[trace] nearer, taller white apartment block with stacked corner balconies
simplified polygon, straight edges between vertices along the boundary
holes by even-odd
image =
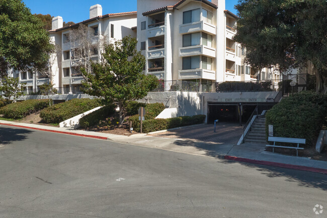
[[[224,0],[138,0],[144,72],[201,84],[257,80],[259,73],[242,64],[244,49],[232,40],[237,19]]]

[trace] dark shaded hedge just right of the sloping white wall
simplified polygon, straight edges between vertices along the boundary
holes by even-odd
[[[116,105],[110,104],[106,105],[99,110],[93,111],[81,117],[79,119],[79,124],[81,127],[90,127],[99,124],[101,120],[105,120],[107,117],[115,113]]]

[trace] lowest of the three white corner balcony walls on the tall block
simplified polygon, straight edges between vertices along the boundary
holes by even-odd
[[[179,80],[216,80],[216,71],[209,69],[183,69],[178,71]]]

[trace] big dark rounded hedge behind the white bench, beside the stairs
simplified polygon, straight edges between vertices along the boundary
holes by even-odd
[[[274,136],[305,138],[312,146],[322,126],[326,124],[327,95],[310,91],[284,98],[266,114],[268,125],[274,126]]]

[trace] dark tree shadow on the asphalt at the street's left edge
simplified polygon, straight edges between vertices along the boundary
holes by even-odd
[[[0,127],[0,143],[1,144],[9,144],[12,141],[21,141],[27,138],[27,134],[32,131],[27,129],[14,129],[14,128],[6,128]]]

